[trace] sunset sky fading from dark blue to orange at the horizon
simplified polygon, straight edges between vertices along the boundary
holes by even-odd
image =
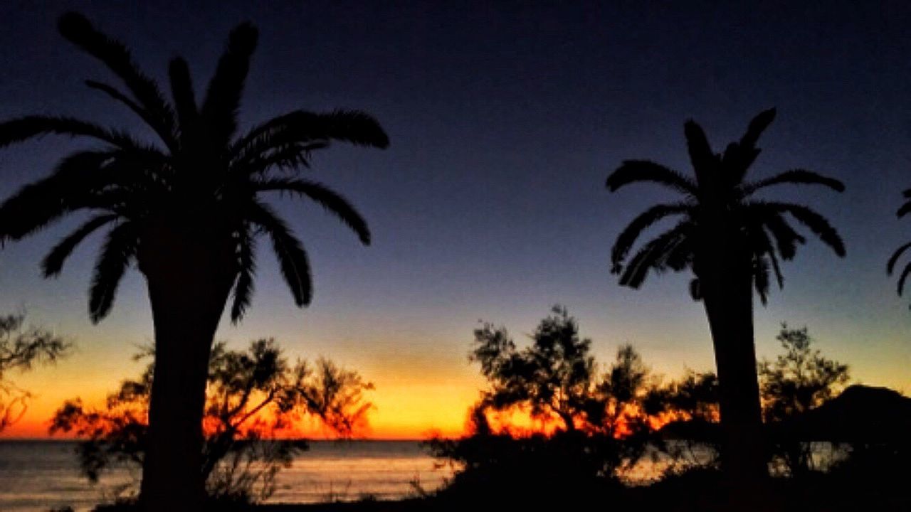
[[[242,348],[274,337],[291,357],[327,356],[376,386],[378,438],[462,431],[484,381],[467,353],[479,321],[517,341],[560,303],[609,363],[632,343],[656,374],[711,370],[704,311],[685,274],[640,290],[609,273],[619,230],[666,191],[609,193],[623,159],[689,171],[682,127],[693,118],[721,150],[756,113],[778,117],[750,176],[813,169],[844,181],[782,188],[841,232],[839,259],[810,240],[784,264],[783,291],[757,303],[761,357],[780,324],[807,326],[855,382],[911,392],[911,297],[885,261],[911,240],[897,220],[911,187],[911,7],[903,2],[5,2],[0,16],[0,119],[67,114],[151,139],[130,113],[82,83],[112,79],[56,33],[67,10],[128,44],[164,80],[185,56],[203,88],[232,26],[260,28],[241,124],[305,108],[358,108],[379,119],[385,150],[336,145],[308,178],[343,193],[374,243],[302,201],[277,200],[311,256],[312,305],[294,306],[268,251],[240,325],[217,338]],[[46,137],[0,149],[0,200],[85,140]],[[772,194],[772,192],[770,192]],[[772,197],[770,195],[770,197]],[[38,261],[84,216],[0,251],[0,312],[27,312],[76,352],[52,367],[7,374],[36,396],[7,436],[45,435],[67,398],[101,400],[152,340],[145,282],[130,271],[113,311],[93,325],[87,287],[100,236],[54,280]],[[262,246],[265,247],[264,245]]]

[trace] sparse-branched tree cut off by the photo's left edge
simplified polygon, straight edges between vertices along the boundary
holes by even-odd
[[[24,314],[0,316],[0,432],[22,419],[32,394],[5,378],[13,370],[30,370],[34,364],[54,363],[69,353],[72,344],[46,329],[26,328]]]

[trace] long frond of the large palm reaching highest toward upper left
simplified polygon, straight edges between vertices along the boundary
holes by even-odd
[[[174,113],[161,95],[155,80],[143,74],[127,46],[97,31],[84,15],[69,12],[60,16],[57,23],[60,34],[89,55],[96,57],[114,72],[146,111],[155,119],[153,128],[169,134],[174,140]],[[169,144],[170,147],[170,144]]]

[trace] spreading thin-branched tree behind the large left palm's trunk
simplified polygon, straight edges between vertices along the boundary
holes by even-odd
[[[137,358],[153,355],[152,350]],[[154,362],[135,380],[108,394],[103,409],[68,400],[51,422],[50,433],[72,432],[79,463],[90,482],[114,464],[141,466],[148,443],[148,404]],[[200,473],[212,499],[258,501],[275,490],[275,476],[290,466],[306,442],[282,437],[305,417],[335,434],[350,436],[366,423],[371,404],[363,393],[373,385],[331,361],[289,364],[272,339],[256,340],[246,351],[216,343],[209,364],[205,443]]]

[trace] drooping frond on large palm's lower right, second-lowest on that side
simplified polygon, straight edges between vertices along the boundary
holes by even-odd
[[[312,300],[310,262],[307,261],[307,253],[303,250],[301,241],[292,234],[284,220],[260,202],[252,204],[247,219],[268,233],[272,250],[279,261],[281,276],[292,292],[294,303],[298,306],[309,304]]]

